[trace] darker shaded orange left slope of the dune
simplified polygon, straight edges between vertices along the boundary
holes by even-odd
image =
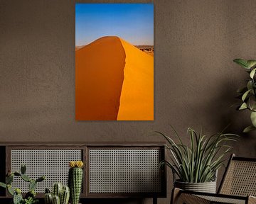
[[[75,119],[117,120],[125,52],[117,37],[103,37],[75,52]]]

